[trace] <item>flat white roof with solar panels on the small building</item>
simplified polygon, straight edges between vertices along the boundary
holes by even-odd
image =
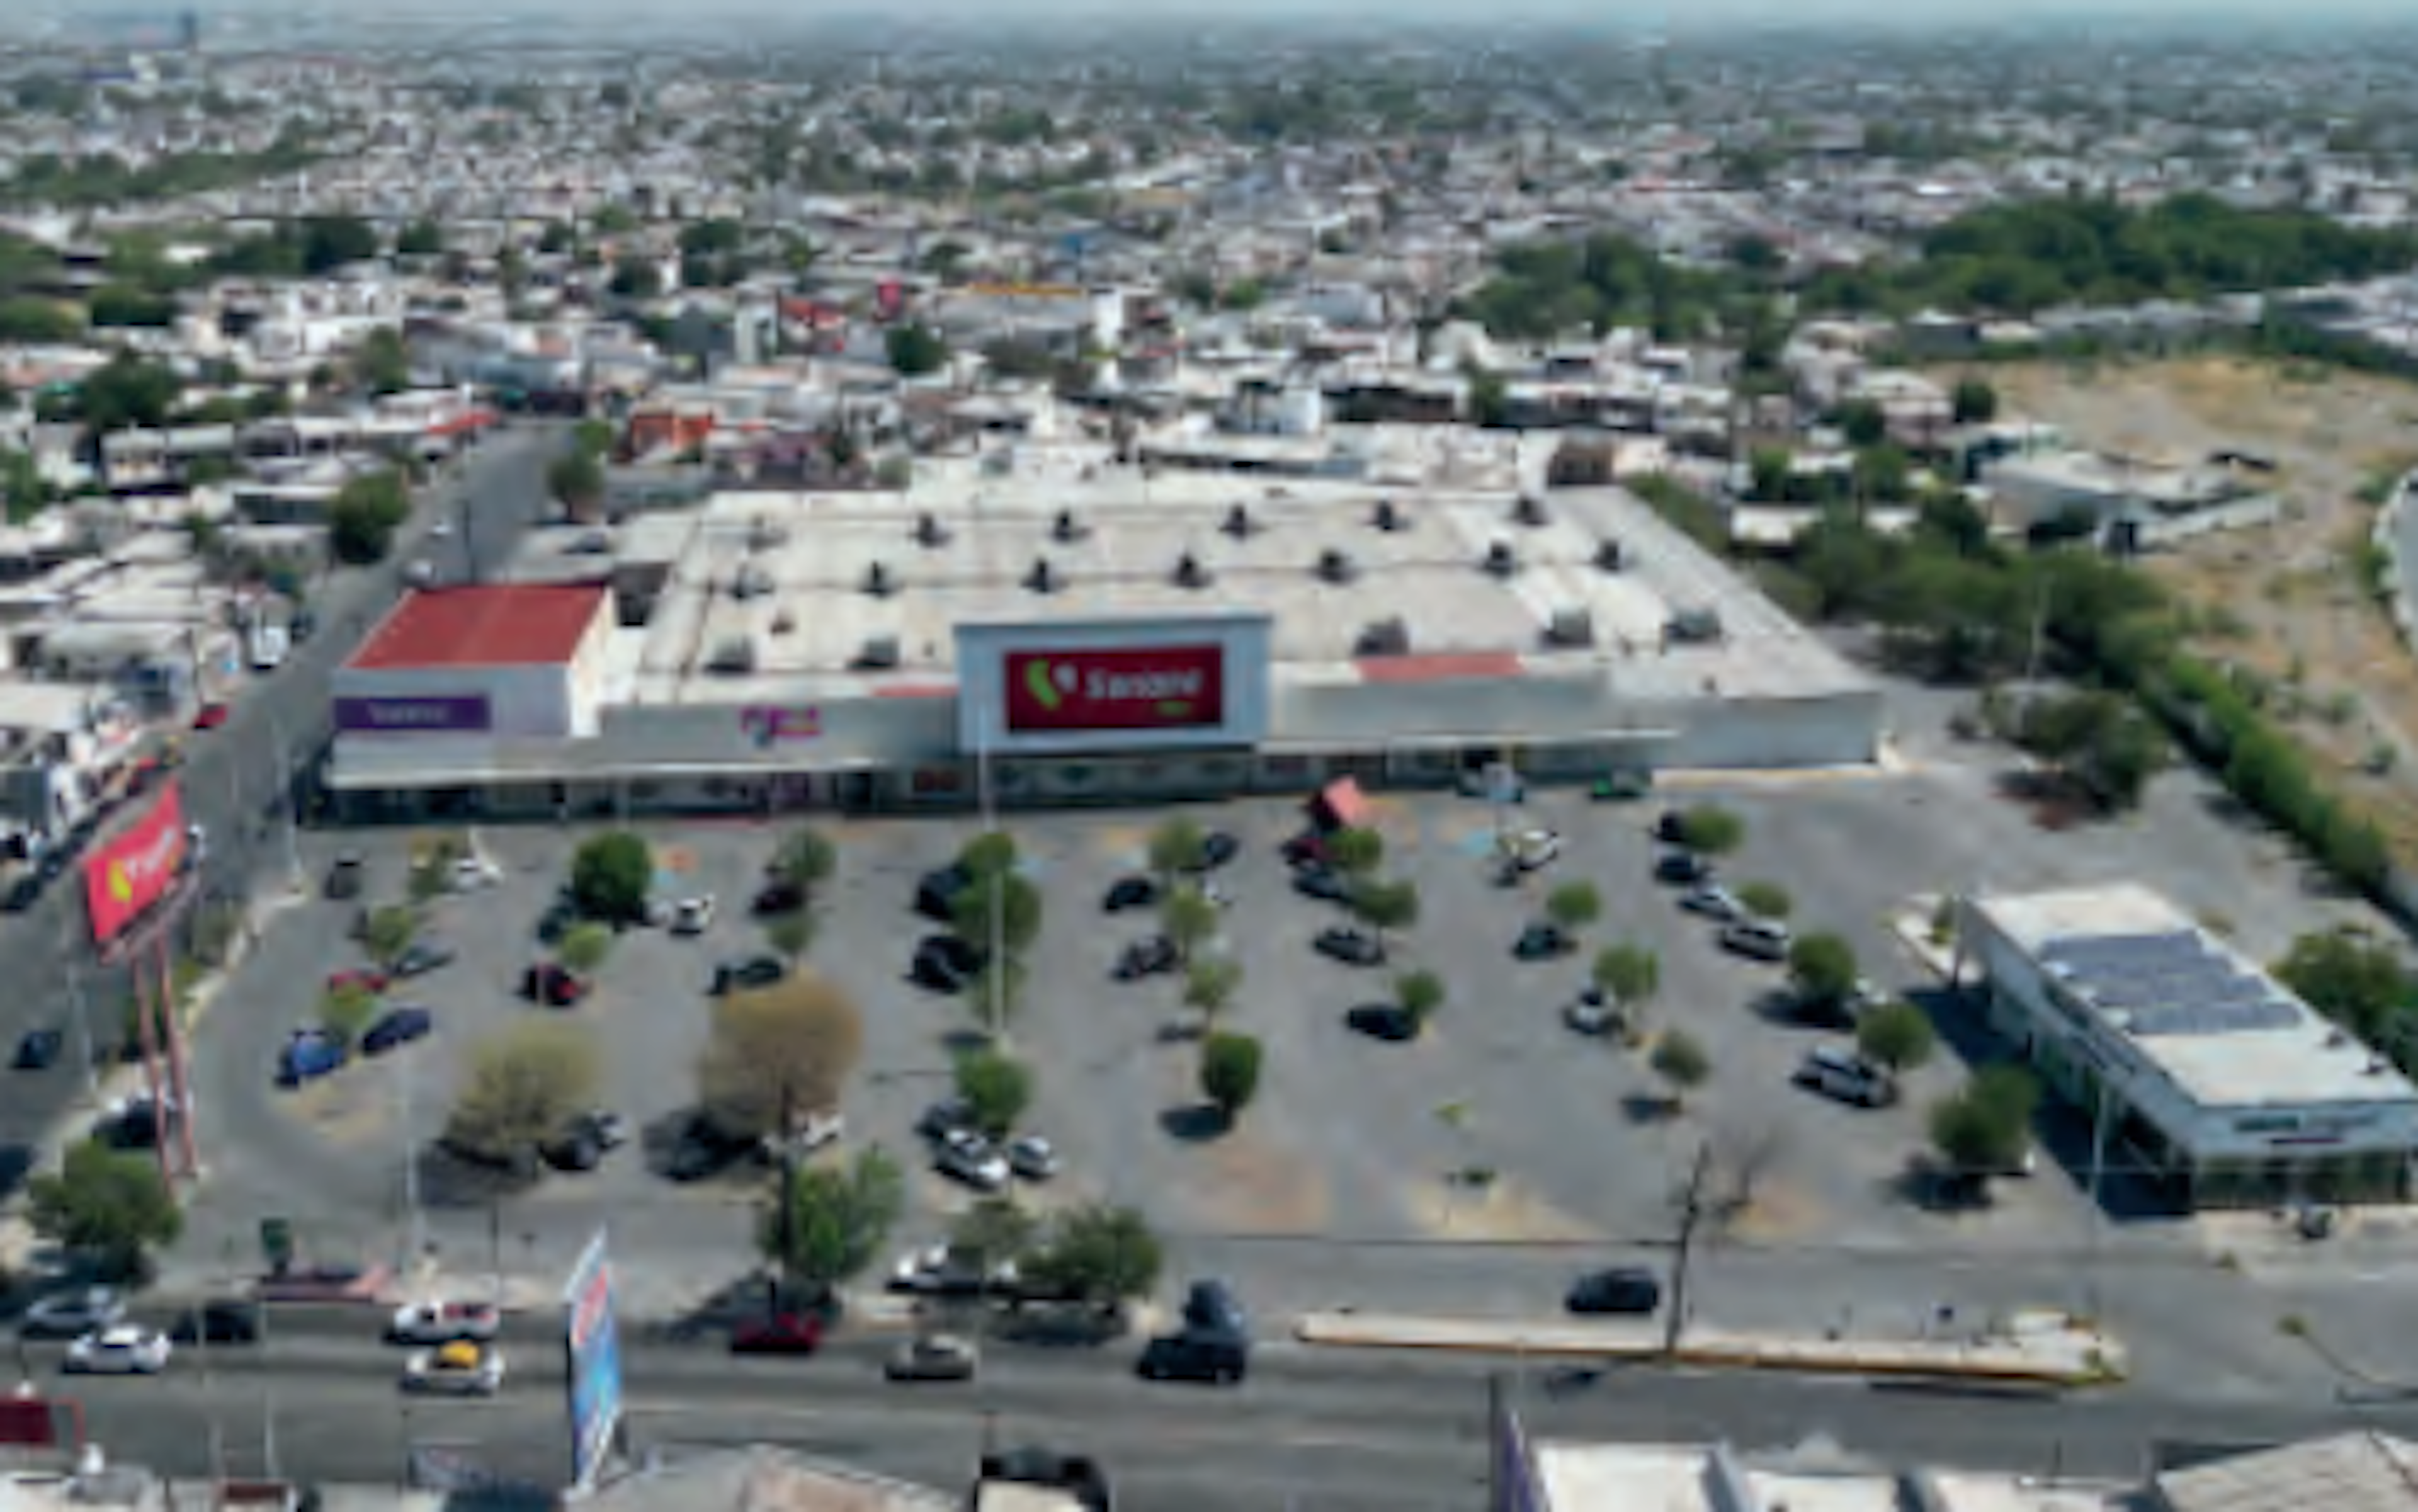
[[[1973,907],[2203,1108],[2418,1101],[2384,1057],[2150,888],[1995,895]]]

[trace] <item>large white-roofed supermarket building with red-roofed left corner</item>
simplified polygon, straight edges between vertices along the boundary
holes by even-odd
[[[1618,489],[933,462],[907,494],[718,494],[609,556],[566,542],[406,598],[339,670],[346,813],[897,810],[984,779],[1151,801],[1881,745],[1862,673]]]

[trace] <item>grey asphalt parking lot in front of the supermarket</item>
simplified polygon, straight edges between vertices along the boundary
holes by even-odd
[[[1025,1188],[1035,1205],[1105,1198],[1151,1212],[1175,1251],[1265,1270],[1250,1285],[1274,1304],[1352,1299],[1381,1304],[1390,1275],[1405,1287],[1453,1289],[1468,1306],[1535,1299],[1543,1270],[1572,1253],[1661,1243],[1673,1190],[1710,1147],[1714,1188],[1755,1166],[1755,1202],[1739,1243],[1843,1251],[1961,1251],[1988,1256],[2079,1243],[2089,1212],[2058,1159],[2031,1181],[2000,1183],[1980,1214],[1937,1214],[1905,1200],[1901,1173],[1925,1142],[1925,1106],[1956,1084],[1954,1052],[1908,1081],[1896,1108],[1857,1110],[1789,1086],[1804,1050],[1826,1035],[1768,1011],[1782,973],[1724,953],[1717,927],[1676,907],[1651,878],[1654,815],[1668,803],[1719,801],[1746,842],[1724,861],[1729,881],[1772,881],[1794,895],[1799,929],[1847,936],[1864,975],[1886,992],[1922,982],[1888,919],[1908,895],[2021,888],[2138,876],[2167,888],[2266,958],[2329,907],[2302,895],[2297,868],[2268,842],[2212,813],[2200,781],[2169,774],[2150,810],[2116,825],[2050,832],[2002,798],[1985,762],[1934,762],[1910,774],[1705,781],[1651,801],[1610,806],[1584,793],[1538,793],[1509,815],[1564,837],[1560,859],[1519,888],[1489,864],[1497,813],[1448,793],[1381,796],[1373,823],[1386,871],[1417,883],[1422,917],[1393,941],[1383,970],[1359,970],[1311,948],[1340,910],[1301,898],[1279,844],[1301,827],[1289,803],[1190,810],[1240,839],[1219,873],[1233,895],[1224,948],[1243,987],[1224,1028],[1267,1048],[1260,1098],[1216,1132],[1197,1115],[1192,1014],[1175,977],[1117,982],[1127,941],[1153,929],[1146,912],[1105,914],[1107,885],[1139,871],[1158,813],[1018,813],[1011,830],[1047,898],[1040,943],[1011,1040],[1035,1072],[1030,1127],[1049,1135],[1064,1173]],[[916,1113],[948,1089],[950,1052],[979,1028],[965,997],[907,980],[919,936],[936,929],[909,910],[916,878],[974,832],[962,820],[825,823],[839,849],[810,960],[854,992],[866,1057],[846,1098],[849,1144],[883,1142],[912,1178],[899,1243],[929,1241],[967,1193],[926,1168]],[[665,895],[713,893],[704,939],[631,931],[597,973],[597,992],[568,1014],[597,1028],[607,1101],[638,1127],[677,1120],[692,1101],[713,963],[762,951],[747,919],[779,827],[754,823],[653,825]],[[201,1139],[210,1188],[169,1270],[249,1265],[264,1214],[293,1217],[307,1248],[329,1258],[394,1260],[409,1248],[406,1164],[442,1125],[464,1048],[517,1016],[515,997],[539,958],[534,924],[566,876],[580,830],[503,827],[476,835],[501,883],[442,898],[428,936],[457,960],[397,987],[426,1002],[438,1031],[377,1062],[302,1091],[273,1091],[276,1050],[307,1023],[331,970],[360,963],[346,939],[353,905],[300,900],[266,927],[261,948],[198,1035]],[[404,832],[312,837],[312,864],[339,847],[370,859],[368,900],[404,885]],[[1514,960],[1521,927],[1552,883],[1589,878],[1603,919],[1574,956]],[[1639,1050],[1584,1038],[1562,1009],[1601,943],[1659,953],[1654,1026],[1685,1026],[1712,1062],[1710,1081],[1676,1118],[1654,1115],[1659,1081]],[[1344,1014],[1383,1002],[1402,968],[1434,970],[1446,1004],[1417,1043],[1381,1043]],[[1959,1040],[1956,1023],[1942,1023]],[[2063,1154],[2050,1144],[2050,1154]],[[1477,1188],[1456,1173],[1485,1171]],[[679,1185],[650,1168],[641,1144],[600,1171],[546,1176],[527,1193],[488,1200],[423,1171],[423,1236],[452,1272],[559,1275],[583,1239],[612,1224],[643,1306],[711,1289],[752,1260],[762,1183]],[[2164,1246],[2179,1231],[2113,1231],[2111,1243]],[[1446,1243],[1431,1243],[1446,1241]],[[1407,1256],[1417,1253],[1412,1265]],[[1386,1256],[1405,1256],[1388,1265]],[[1441,1256],[1441,1260],[1439,1260]],[[1424,1277],[1412,1282],[1412,1277]]]

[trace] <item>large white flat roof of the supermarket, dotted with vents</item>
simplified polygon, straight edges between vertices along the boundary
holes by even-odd
[[[1543,523],[1514,520],[1516,491],[1381,486],[1134,469],[979,477],[931,469],[907,494],[718,494],[689,520],[648,624],[631,694],[643,704],[728,702],[750,685],[846,697],[955,682],[967,622],[1255,610],[1272,622],[1277,680],[1381,682],[1441,675],[1601,673],[1627,697],[1814,697],[1867,680],[1755,588],[1620,489],[1538,494]],[[1398,530],[1381,530],[1388,503]],[[1231,530],[1243,510],[1248,530]],[[1071,525],[1062,535],[1062,515]],[[931,523],[931,539],[919,527]],[[663,515],[646,552],[665,552]],[[1516,571],[1482,569],[1494,544]],[[1622,566],[1598,566],[1618,542]],[[638,547],[634,539],[631,547]],[[559,556],[561,547],[539,554]],[[1330,581],[1320,561],[1349,561]],[[1182,585],[1192,559],[1202,585]],[[1054,588],[1030,581],[1047,559]],[[602,561],[602,559],[590,559]],[[537,559],[532,569],[544,569]],[[866,585],[875,571],[890,593]],[[1673,614],[1710,610],[1717,644],[1664,644]],[[1591,646],[1548,631],[1581,617]],[[1407,656],[1369,656],[1364,634],[1398,619]],[[745,641],[747,677],[706,673]],[[897,665],[861,670],[887,644]]]

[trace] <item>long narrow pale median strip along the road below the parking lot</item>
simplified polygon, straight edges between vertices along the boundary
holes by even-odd
[[[1654,1360],[1659,1323],[1523,1318],[1422,1318],[1405,1314],[1303,1314],[1294,1335],[1342,1350],[1460,1350],[1589,1360]],[[2099,1386],[2125,1377],[2123,1345],[2058,1311],[2017,1314],[2002,1328],[1959,1338],[1823,1338],[1688,1328],[1678,1364],[1792,1369],[1857,1377],[1968,1379],[2024,1386]]]

